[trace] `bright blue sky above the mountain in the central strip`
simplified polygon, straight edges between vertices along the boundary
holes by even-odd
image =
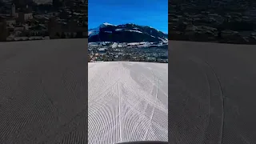
[[[89,29],[134,23],[168,32],[168,0],[88,0]]]

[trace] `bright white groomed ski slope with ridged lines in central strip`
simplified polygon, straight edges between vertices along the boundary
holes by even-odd
[[[88,142],[168,141],[168,64],[88,63]]]

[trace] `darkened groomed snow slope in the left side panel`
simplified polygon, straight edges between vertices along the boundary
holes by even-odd
[[[87,39],[0,43],[0,143],[86,143]]]

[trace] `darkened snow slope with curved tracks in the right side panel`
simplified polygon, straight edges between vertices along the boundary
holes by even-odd
[[[169,41],[170,143],[256,143],[256,46]]]

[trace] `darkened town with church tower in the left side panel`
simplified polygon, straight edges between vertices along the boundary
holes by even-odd
[[[0,42],[87,38],[87,2],[0,0]]]

